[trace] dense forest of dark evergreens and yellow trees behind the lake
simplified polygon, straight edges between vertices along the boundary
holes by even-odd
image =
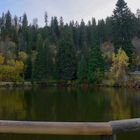
[[[37,22],[29,24],[26,13],[0,17],[0,81],[121,83],[139,67],[133,40],[140,37],[140,18],[124,0],[105,20],[48,22],[45,12],[45,26]]]

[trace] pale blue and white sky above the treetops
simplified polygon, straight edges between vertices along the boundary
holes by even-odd
[[[140,0],[125,0],[132,12],[140,8]],[[105,19],[112,15],[117,0],[0,0],[0,14],[10,10],[12,15],[22,16],[26,13],[29,23],[38,18],[39,26],[44,25],[44,13],[51,16],[63,17],[64,22],[70,20],[85,22],[92,17]]]

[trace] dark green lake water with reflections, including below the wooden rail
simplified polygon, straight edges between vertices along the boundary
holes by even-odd
[[[140,118],[140,91],[127,89],[0,90],[1,120],[110,121]],[[140,132],[118,140],[140,140]],[[0,140],[99,140],[94,136],[0,134]]]

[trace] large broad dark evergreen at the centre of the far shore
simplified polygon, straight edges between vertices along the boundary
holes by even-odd
[[[76,79],[76,52],[71,30],[67,27],[61,33],[56,56],[57,77],[60,80]]]

